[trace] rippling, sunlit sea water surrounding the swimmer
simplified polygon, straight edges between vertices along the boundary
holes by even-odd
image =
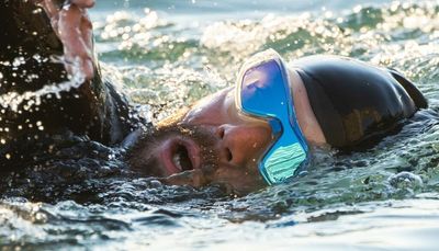
[[[103,75],[153,122],[234,84],[267,48],[396,68],[429,107],[369,150],[317,149],[306,175],[245,196],[135,176],[121,149],[72,137],[52,172],[1,184],[1,249],[437,250],[439,1],[109,0],[90,14]]]

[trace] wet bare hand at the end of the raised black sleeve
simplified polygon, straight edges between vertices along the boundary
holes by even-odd
[[[43,7],[52,27],[64,45],[64,65],[69,75],[82,72],[86,79],[94,77],[92,60],[92,24],[87,13],[94,0],[69,0],[59,7],[56,0],[32,0]]]

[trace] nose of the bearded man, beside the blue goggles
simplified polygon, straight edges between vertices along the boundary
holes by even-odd
[[[221,161],[237,167],[244,167],[249,161],[256,162],[271,140],[269,126],[261,124],[224,124],[216,134],[221,139]]]

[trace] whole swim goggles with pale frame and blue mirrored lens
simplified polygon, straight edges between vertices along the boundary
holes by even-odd
[[[268,49],[244,64],[235,100],[240,113],[271,126],[274,140],[258,161],[267,183],[278,184],[294,176],[307,160],[308,146],[297,124],[288,71],[278,53]]]

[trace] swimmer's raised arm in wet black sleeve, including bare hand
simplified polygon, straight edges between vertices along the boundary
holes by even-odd
[[[42,137],[69,130],[113,145],[138,126],[100,76],[87,15],[93,3],[0,2],[0,169]]]

